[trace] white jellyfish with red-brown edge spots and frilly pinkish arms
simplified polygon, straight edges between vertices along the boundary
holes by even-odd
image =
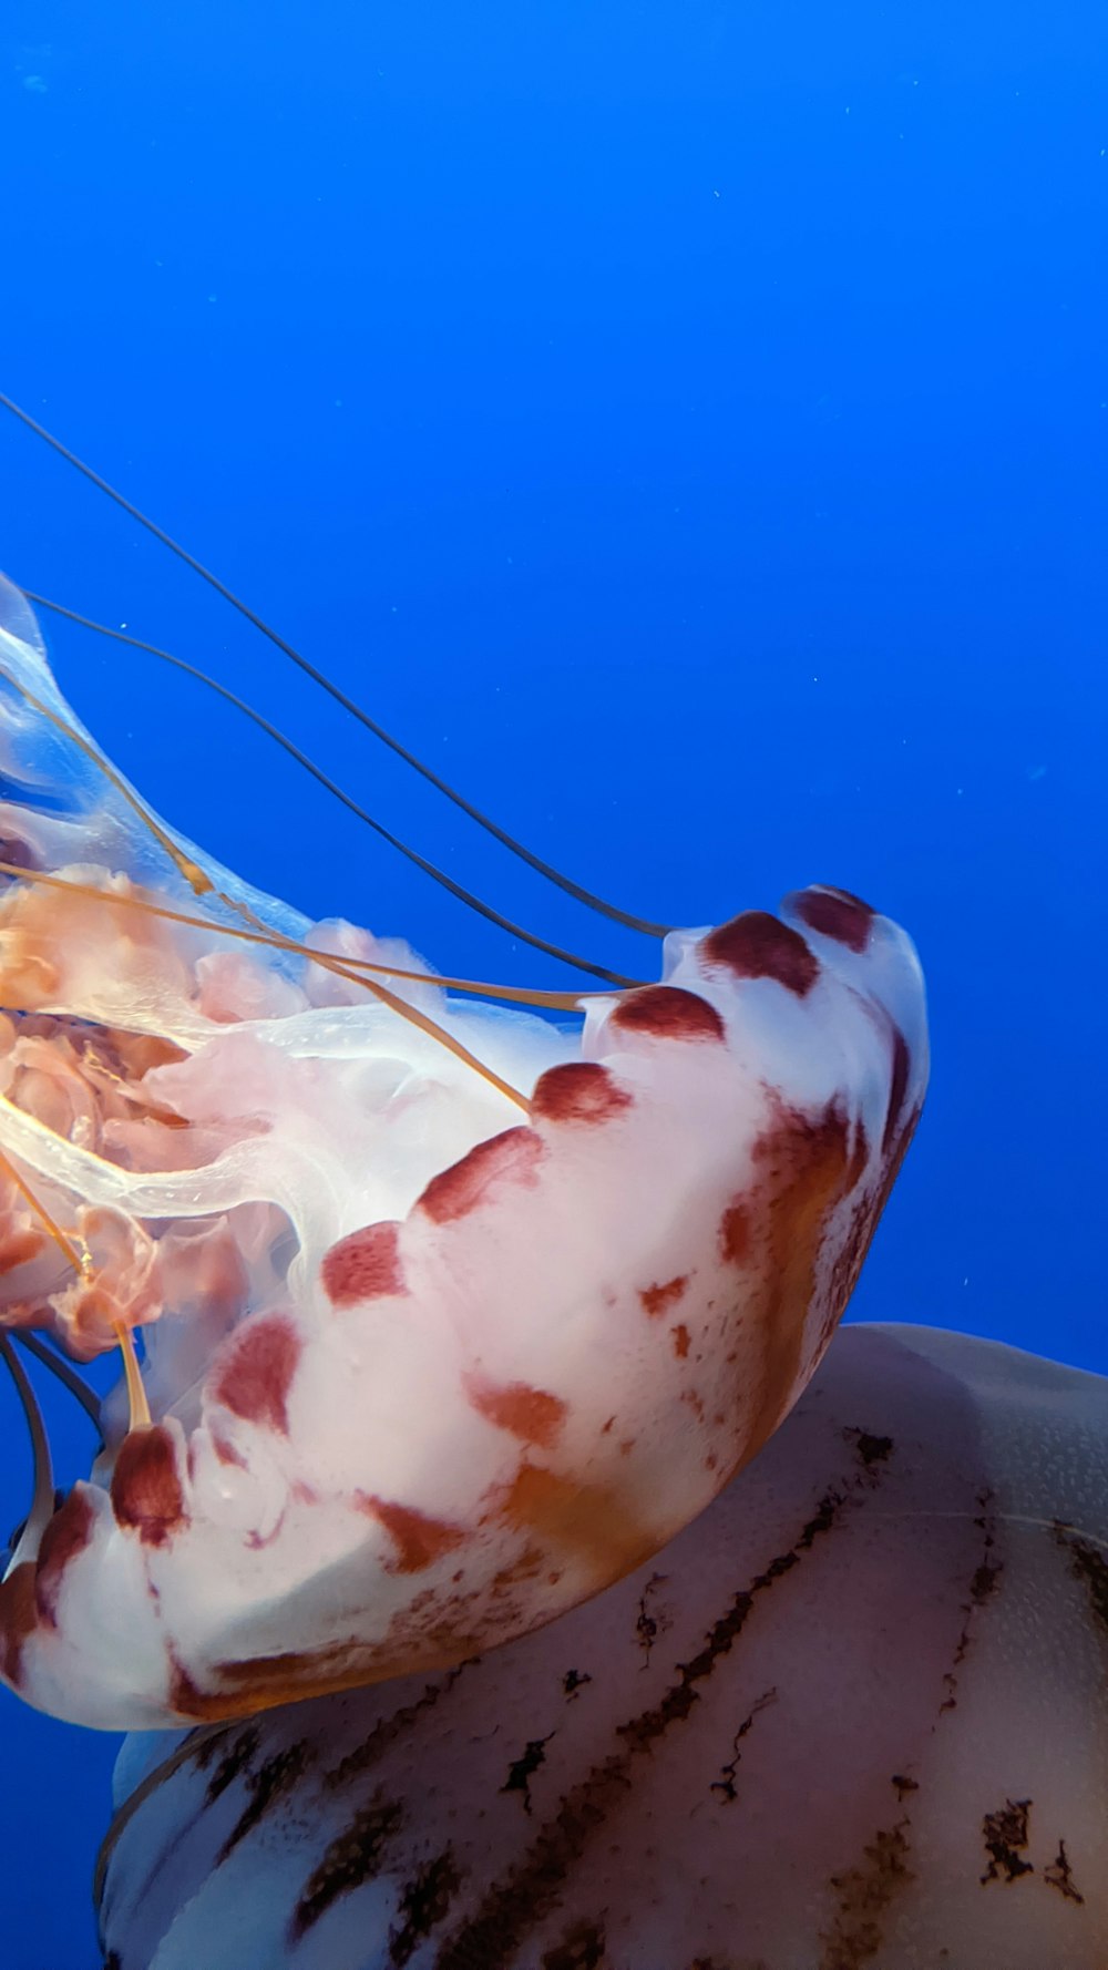
[[[905,934],[808,888],[668,934],[655,983],[530,995],[580,1030],[463,995],[162,823],[10,585],[0,749],[0,1320],[126,1361],[55,1509],[4,1340],[4,1680],[101,1728],[241,1716],[643,1564],[846,1306],[927,1082]]]

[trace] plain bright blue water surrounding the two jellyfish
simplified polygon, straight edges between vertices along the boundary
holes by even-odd
[[[702,922],[822,879],[901,918],[935,1080],[854,1312],[1100,1369],[1106,102],[1102,0],[8,0],[0,35],[0,388],[601,892]],[[10,420],[0,565],[649,961]],[[235,869],[562,981],[197,686],[47,632]],[[4,1966],[89,1970],[110,1745],[0,1722]]]

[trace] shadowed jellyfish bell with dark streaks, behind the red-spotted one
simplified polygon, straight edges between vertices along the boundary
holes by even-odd
[[[635,1576],[132,1806],[112,1970],[1104,1970],[1108,1383],[848,1328]]]

